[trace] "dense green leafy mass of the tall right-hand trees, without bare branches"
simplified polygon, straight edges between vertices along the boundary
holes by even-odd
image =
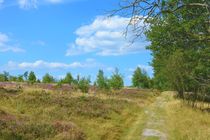
[[[201,0],[164,1],[163,9],[203,3]],[[151,42],[154,84],[162,90],[210,94],[210,13],[205,6],[183,6],[148,20],[146,36]]]

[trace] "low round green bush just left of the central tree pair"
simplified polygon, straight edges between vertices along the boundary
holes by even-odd
[[[82,77],[79,79],[78,87],[83,93],[88,93],[89,87],[90,87],[90,78]]]

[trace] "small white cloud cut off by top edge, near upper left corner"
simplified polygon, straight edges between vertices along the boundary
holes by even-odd
[[[19,7],[22,9],[37,8],[37,0],[18,0]]]

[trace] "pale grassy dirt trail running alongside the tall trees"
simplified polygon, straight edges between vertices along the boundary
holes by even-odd
[[[146,126],[142,132],[142,139],[167,140],[167,133],[164,129],[165,110],[167,93],[162,93],[156,101],[145,109],[147,118]]]

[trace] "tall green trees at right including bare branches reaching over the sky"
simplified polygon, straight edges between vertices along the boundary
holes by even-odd
[[[151,42],[155,88],[176,90],[193,106],[210,102],[209,0],[126,0],[115,13]]]

